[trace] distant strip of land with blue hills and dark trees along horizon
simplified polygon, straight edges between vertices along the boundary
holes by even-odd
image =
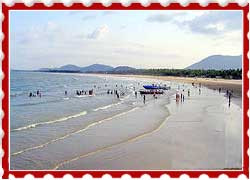
[[[242,56],[213,55],[184,69],[136,69],[129,66],[112,67],[104,64],[92,64],[80,67],[67,64],[58,68],[41,68],[35,71],[242,79]]]

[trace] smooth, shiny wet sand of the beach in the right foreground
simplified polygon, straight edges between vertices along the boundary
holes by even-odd
[[[210,89],[166,106],[166,121],[143,138],[63,164],[62,169],[225,169],[242,167],[242,109]],[[136,120],[136,119],[135,119]],[[113,126],[114,129],[119,128]]]

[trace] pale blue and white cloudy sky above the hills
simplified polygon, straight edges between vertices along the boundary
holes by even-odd
[[[185,68],[210,55],[241,55],[241,11],[10,12],[10,67],[95,63]]]

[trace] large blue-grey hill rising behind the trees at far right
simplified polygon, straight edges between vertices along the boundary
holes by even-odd
[[[228,70],[228,69],[241,69],[242,56],[222,56],[214,55],[209,56],[185,69],[203,69],[203,70]]]

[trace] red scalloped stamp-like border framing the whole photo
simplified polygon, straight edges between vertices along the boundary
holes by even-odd
[[[242,170],[216,170],[216,171],[14,171],[9,169],[9,11],[10,10],[242,10],[243,11],[243,169]],[[2,89],[4,97],[2,99],[2,108],[4,111],[4,117],[2,121],[2,128],[4,136],[2,139],[2,147],[4,155],[2,158],[2,167],[4,170],[3,179],[8,179],[12,174],[15,177],[21,178],[27,174],[32,174],[34,177],[42,178],[47,174],[51,174],[56,178],[62,178],[66,174],[71,174],[75,178],[81,178],[85,174],[90,174],[95,178],[102,177],[104,174],[109,174],[113,178],[121,177],[124,174],[136,178],[141,177],[143,174],[148,174],[153,178],[160,177],[163,174],[168,174],[172,178],[178,178],[183,174],[187,174],[190,177],[199,177],[202,174],[207,174],[209,177],[219,177],[221,174],[226,174],[229,177],[235,178],[241,174],[244,174],[249,178],[249,157],[247,150],[249,148],[249,137],[247,131],[249,129],[249,118],[247,111],[249,109],[249,99],[247,96],[249,79],[247,72],[249,70],[249,59],[247,53],[249,51],[249,40],[247,34],[249,32],[249,20],[247,14],[249,12],[249,4],[244,7],[239,6],[237,3],[229,3],[225,7],[221,7],[218,3],[210,3],[208,6],[203,7],[199,3],[190,3],[188,6],[183,7],[179,3],[170,3],[167,7],[163,7],[160,3],[151,3],[149,6],[144,7],[140,3],[131,3],[128,7],[123,6],[121,3],[112,3],[110,6],[105,7],[102,3],[93,3],[90,7],[83,5],[82,3],[74,3],[70,7],[66,7],[63,3],[54,3],[52,6],[47,7],[43,3],[34,3],[33,6],[27,7],[23,3],[16,3],[11,7],[2,4],[2,12],[4,14],[4,20],[2,22],[2,31],[4,39],[2,41],[2,50],[4,58],[2,61],[2,70],[4,78],[2,81]]]

